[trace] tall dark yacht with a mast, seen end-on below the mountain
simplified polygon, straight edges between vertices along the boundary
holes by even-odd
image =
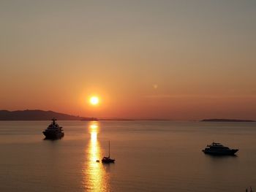
[[[63,129],[56,123],[56,118],[52,120],[53,122],[42,133],[45,135],[45,139],[61,139],[61,137],[64,137]]]

